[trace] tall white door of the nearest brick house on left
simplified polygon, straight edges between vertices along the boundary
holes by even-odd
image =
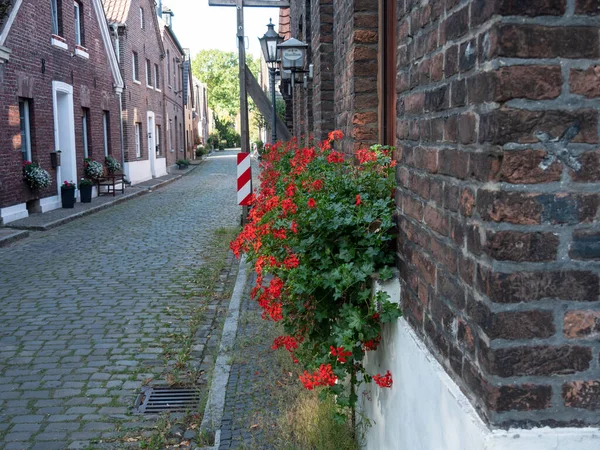
[[[77,157],[75,154],[75,114],[73,87],[60,81],[52,82],[54,112],[54,147],[60,150],[60,167],[57,170],[57,188],[65,181],[77,184]]]

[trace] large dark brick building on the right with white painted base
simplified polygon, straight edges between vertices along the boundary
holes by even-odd
[[[398,389],[429,394],[379,398],[411,410],[374,427],[379,448],[594,448],[600,3],[292,0],[286,14],[314,64],[294,133],[397,147],[406,320],[387,358]]]

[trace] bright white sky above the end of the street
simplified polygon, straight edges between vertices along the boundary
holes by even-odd
[[[219,49],[237,52],[235,7],[208,6],[208,0],[163,0],[163,5],[173,13],[173,31],[192,57],[200,50]],[[267,31],[269,18],[275,29],[279,21],[278,8],[244,8],[244,34],[246,51],[259,57],[258,38]]]

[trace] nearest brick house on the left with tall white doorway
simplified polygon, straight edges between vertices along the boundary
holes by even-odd
[[[121,159],[123,81],[100,0],[16,0],[3,14],[0,221],[7,223],[60,207],[60,185],[83,176],[84,157]],[[26,185],[25,160],[50,173],[48,188]]]

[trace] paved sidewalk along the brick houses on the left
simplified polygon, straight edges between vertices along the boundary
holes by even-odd
[[[181,177],[187,175],[202,164],[203,161],[204,159],[194,160],[191,161],[190,166],[187,169],[177,170],[174,173],[159,178],[153,178],[134,186],[125,186],[125,193],[122,194],[117,192],[114,197],[112,195],[103,195],[93,198],[91,203],[77,202],[72,209],[58,208],[45,213],[32,214],[24,219],[10,222],[0,228],[0,247],[9,245],[19,239],[26,238],[30,234],[29,231],[47,231],[80,217],[96,213],[132,198],[139,197],[140,195],[148,194],[154,189],[161,188],[179,180]]]

